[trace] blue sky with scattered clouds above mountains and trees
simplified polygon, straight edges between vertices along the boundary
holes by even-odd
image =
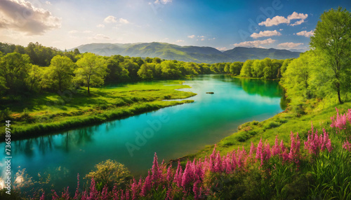
[[[320,15],[345,0],[0,0],[0,42],[60,50],[148,43],[308,50]]]

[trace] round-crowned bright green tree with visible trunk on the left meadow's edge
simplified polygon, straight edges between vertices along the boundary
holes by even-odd
[[[105,59],[88,52],[77,61],[77,69],[74,71],[76,77],[74,80],[84,83],[88,87],[88,94],[90,94],[91,86],[98,86],[104,84],[104,78],[107,75],[107,66]]]

